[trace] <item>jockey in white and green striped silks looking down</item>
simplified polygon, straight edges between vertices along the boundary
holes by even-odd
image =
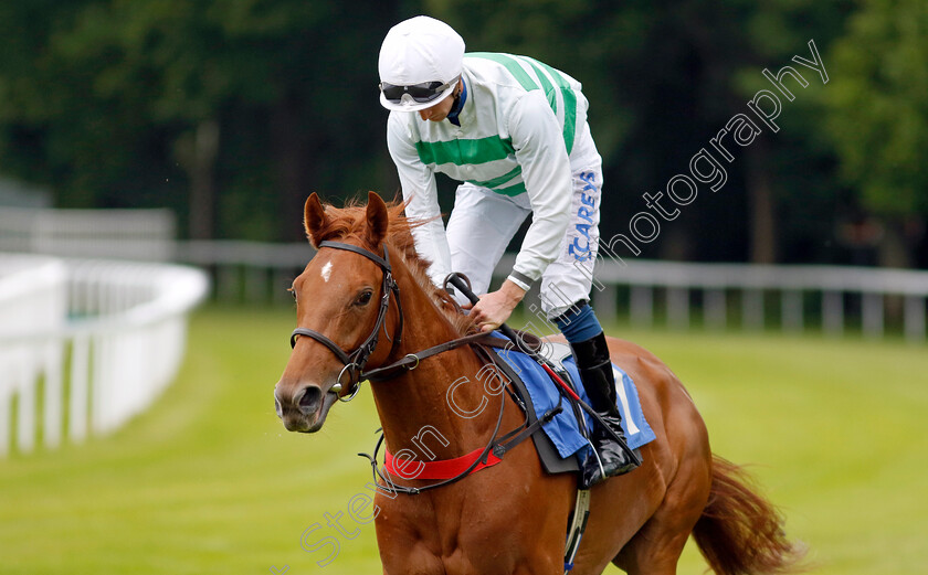
[[[390,29],[380,49],[380,103],[391,110],[387,143],[397,164],[416,251],[436,285],[452,271],[485,294],[471,310],[483,331],[505,322],[541,280],[542,310],[570,343],[593,409],[624,438],[605,336],[588,300],[599,241],[602,159],[587,125],[580,83],[541,62],[464,53],[447,24],[416,17]],[[461,185],[447,228],[435,172]],[[531,215],[512,273],[496,291],[491,274]],[[599,461],[587,485],[635,462],[599,426]],[[600,462],[602,469],[600,469]]]

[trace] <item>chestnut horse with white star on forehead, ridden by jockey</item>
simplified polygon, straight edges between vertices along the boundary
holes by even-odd
[[[481,377],[483,355],[471,345],[412,362],[409,354],[472,327],[429,280],[428,263],[413,247],[414,224],[402,209],[376,193],[366,207],[324,207],[315,193],[306,201],[306,233],[318,253],[293,283],[298,328],[274,392],[277,414],[291,432],[316,432],[336,400],[357,392],[361,370],[407,358],[405,369],[389,379],[371,377],[386,445],[393,454],[453,459],[485,447],[496,432],[518,428],[524,414],[508,394],[487,394],[479,384],[455,385],[453,394],[477,415],[450,408],[452,383]],[[703,419],[674,373],[633,343],[610,339],[609,348],[637,385],[656,439],[641,448],[639,469],[592,488],[572,573],[601,573],[612,562],[634,575],[674,574],[690,533],[718,574],[792,567],[799,553],[783,534],[782,518],[736,466],[711,455]],[[576,492],[572,475],[546,475],[531,441],[439,489],[378,492],[383,572],[563,573]]]

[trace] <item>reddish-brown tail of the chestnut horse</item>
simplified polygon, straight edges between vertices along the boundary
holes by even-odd
[[[699,551],[718,575],[800,571],[804,547],[787,539],[782,515],[749,485],[738,466],[713,457],[709,502],[693,529]]]

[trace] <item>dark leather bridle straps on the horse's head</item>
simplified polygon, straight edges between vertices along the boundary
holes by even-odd
[[[355,351],[347,353],[341,348],[338,347],[337,343],[331,341],[326,336],[323,336],[318,331],[310,330],[307,328],[296,328],[291,333],[291,348],[296,345],[296,337],[297,336],[306,336],[307,338],[313,338],[314,340],[318,341],[326,348],[328,348],[336,358],[341,361],[345,366],[341,369],[341,372],[338,374],[338,380],[333,386],[333,390],[338,393],[341,391],[341,376],[345,373],[348,373],[349,377],[349,388],[344,394],[340,395],[338,398],[339,401],[348,402],[358,393],[358,388],[360,387],[360,382],[366,379],[363,377],[363,369],[367,365],[370,355],[373,353],[373,350],[377,348],[377,341],[380,338],[380,328],[383,327],[383,333],[387,334],[387,328],[384,322],[387,320],[387,310],[390,307],[390,294],[397,299],[397,310],[400,313],[400,323],[397,327],[397,332],[392,338],[392,347],[390,348],[390,355],[397,350],[397,345],[400,343],[400,339],[403,334],[403,308],[400,302],[400,286],[393,279],[393,273],[390,268],[390,254],[387,252],[387,246],[383,246],[383,257],[378,256],[373,252],[369,252],[363,247],[358,247],[351,244],[344,244],[341,242],[321,242],[319,243],[319,249],[323,247],[331,247],[335,249],[345,249],[347,252],[354,252],[356,254],[360,254],[366,258],[370,259],[378,266],[380,269],[383,270],[383,281],[380,287],[380,309],[377,312],[377,321],[373,324],[373,331],[370,332],[370,336],[361,343],[358,349]],[[389,336],[387,336],[390,339]]]

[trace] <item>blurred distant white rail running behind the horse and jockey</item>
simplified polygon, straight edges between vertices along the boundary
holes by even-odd
[[[285,289],[314,254],[307,243],[199,241],[179,242],[177,247],[181,262],[214,274],[218,299],[288,306],[293,300]],[[514,263],[515,255],[503,257],[494,285]],[[901,331],[913,343],[928,339],[924,269],[645,259],[629,259],[623,266],[605,258],[597,263],[592,299],[600,318],[621,312],[643,327],[687,329],[702,315],[702,324],[709,329],[821,329],[829,336],[860,330],[871,339]],[[532,289],[523,307],[536,316],[539,304]]]

